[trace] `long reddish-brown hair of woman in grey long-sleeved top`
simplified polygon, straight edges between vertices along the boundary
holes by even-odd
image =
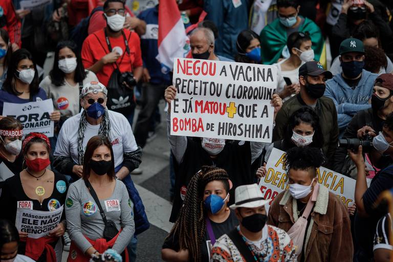
[[[105,136],[94,136],[89,140],[88,145],[86,145],[86,150],[84,151],[84,155],[83,155],[84,161],[83,161],[82,178],[84,180],[90,177],[90,170],[91,170],[90,161],[92,159],[94,150],[96,150],[101,145],[105,145],[111,151],[112,166],[106,174],[111,179],[115,178],[115,157],[113,155],[111,142]]]

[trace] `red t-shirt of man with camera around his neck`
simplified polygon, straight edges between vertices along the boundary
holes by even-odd
[[[119,47],[123,51],[123,54],[119,57],[119,59],[117,59],[120,72],[133,72],[133,69],[142,67],[143,65],[141,43],[137,33],[130,32],[127,29],[123,30],[128,41],[129,54],[125,50],[123,35],[120,35],[117,38],[109,37],[109,41],[111,42],[113,50]],[[84,40],[82,46],[81,55],[84,68],[90,68],[108,53],[110,53],[110,51],[106,45],[104,30],[99,30],[89,35]],[[115,68],[115,63],[105,64],[102,70],[96,73],[98,80],[106,86]]]

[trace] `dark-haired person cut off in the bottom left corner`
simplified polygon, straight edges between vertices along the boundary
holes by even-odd
[[[18,254],[19,234],[15,225],[7,220],[0,220],[0,261],[34,262],[28,256]]]

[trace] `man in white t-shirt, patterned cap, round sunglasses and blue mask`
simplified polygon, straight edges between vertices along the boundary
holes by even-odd
[[[83,174],[83,155],[89,139],[97,135],[108,137],[115,156],[116,177],[123,181],[134,203],[135,229],[138,234],[146,230],[149,223],[129,173],[141,163],[142,150],[137,146],[128,120],[122,114],[108,110],[106,102],[107,90],[103,84],[90,82],[83,86],[80,94],[83,111],[62,125],[53,166],[59,172],[71,176],[72,182],[75,182]],[[136,238],[133,238],[135,249],[130,247],[130,257],[136,256],[136,242]]]

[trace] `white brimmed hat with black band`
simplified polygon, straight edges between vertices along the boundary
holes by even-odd
[[[255,208],[265,206],[271,199],[265,200],[257,184],[238,186],[235,189],[235,204],[230,208]]]

